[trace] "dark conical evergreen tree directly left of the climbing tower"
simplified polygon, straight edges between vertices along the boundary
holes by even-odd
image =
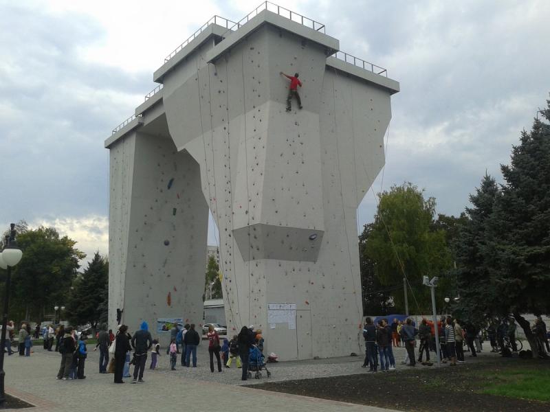
[[[109,264],[96,252],[84,273],[73,282],[66,311],[72,324],[89,323],[92,328],[96,328],[106,306],[108,282]]]

